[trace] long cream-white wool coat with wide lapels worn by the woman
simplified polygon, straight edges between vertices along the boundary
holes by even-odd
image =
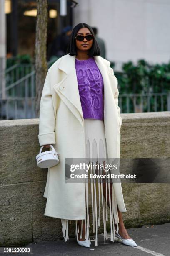
[[[104,125],[108,158],[120,158],[120,127],[117,79],[110,61],[94,56],[104,83]],[[75,56],[66,54],[48,69],[40,102],[38,139],[40,146],[53,144],[60,163],[48,168],[44,215],[85,219],[83,183],[65,183],[65,158],[85,158],[84,118],[80,102]],[[51,149],[50,149],[51,150]],[[126,212],[121,183],[113,183],[120,212]]]

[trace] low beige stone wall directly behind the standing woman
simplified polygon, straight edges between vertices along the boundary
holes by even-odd
[[[62,238],[60,219],[44,215],[47,169],[38,168],[35,161],[38,123],[0,121],[0,246]],[[168,157],[169,131],[170,112],[122,114],[121,158]],[[170,221],[170,184],[122,184],[122,189],[127,228]],[[69,225],[71,237],[75,222]]]

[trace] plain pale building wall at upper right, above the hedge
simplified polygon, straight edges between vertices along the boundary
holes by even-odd
[[[116,62],[170,60],[169,0],[79,0],[74,23],[98,28],[106,58]]]

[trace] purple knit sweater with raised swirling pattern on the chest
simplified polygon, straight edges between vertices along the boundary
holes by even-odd
[[[94,57],[75,59],[78,89],[83,118],[104,120],[104,87]]]

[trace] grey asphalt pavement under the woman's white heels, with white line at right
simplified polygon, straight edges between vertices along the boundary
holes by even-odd
[[[27,247],[32,247],[32,255],[34,256],[170,256],[170,223],[156,226],[145,225],[142,228],[130,228],[128,229],[128,233],[138,244],[138,247],[125,246],[117,241],[112,243],[110,239],[104,244],[103,234],[98,235],[98,246],[95,246],[95,241],[91,241],[90,248],[79,246],[76,237],[70,238],[67,242],[58,240],[30,243]],[[95,239],[95,236],[90,236],[90,239],[93,237]],[[13,254],[0,255],[11,256]],[[21,256],[23,254],[14,255]]]

